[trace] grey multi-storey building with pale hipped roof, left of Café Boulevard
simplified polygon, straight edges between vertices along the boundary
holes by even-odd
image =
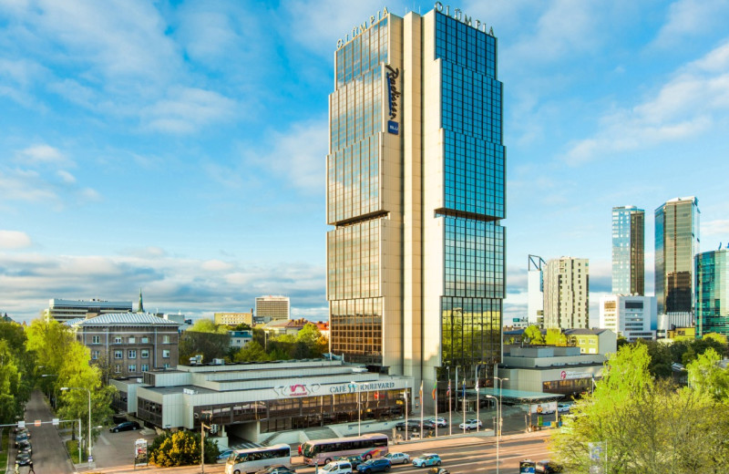
[[[141,376],[178,363],[180,324],[149,313],[112,313],[67,322],[78,342],[91,351],[91,363],[112,376]]]

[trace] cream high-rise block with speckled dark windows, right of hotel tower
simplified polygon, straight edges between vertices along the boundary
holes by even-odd
[[[544,327],[589,327],[590,263],[586,258],[560,257],[547,262],[544,273]]]

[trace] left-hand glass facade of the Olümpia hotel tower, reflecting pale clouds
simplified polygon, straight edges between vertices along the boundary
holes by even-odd
[[[384,69],[389,18],[336,51],[329,97],[327,155],[327,298],[331,351],[382,363],[382,217],[380,196]]]

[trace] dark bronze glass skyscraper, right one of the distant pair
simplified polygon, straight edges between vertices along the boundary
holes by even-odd
[[[699,200],[666,201],[655,210],[658,314],[693,313],[693,257],[699,252]]]

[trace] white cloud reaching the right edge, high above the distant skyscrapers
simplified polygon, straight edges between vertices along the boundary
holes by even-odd
[[[580,165],[599,155],[689,139],[729,118],[729,42],[678,70],[652,98],[605,113],[601,130],[564,156]]]

